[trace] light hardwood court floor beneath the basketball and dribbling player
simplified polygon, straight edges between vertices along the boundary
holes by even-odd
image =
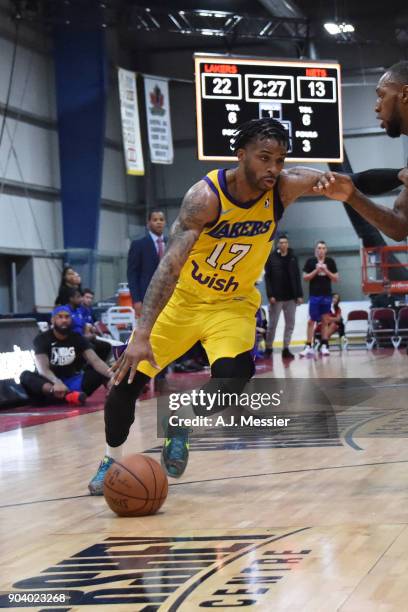
[[[87,495],[101,412],[2,433],[0,593],[20,603],[0,595],[0,608],[408,610],[407,366],[402,351],[288,367],[277,355],[277,377],[387,380],[340,441],[193,440],[188,470],[152,517],[118,518]],[[155,418],[155,402],[142,402],[129,452],[159,458]],[[23,601],[41,594],[57,601]]]

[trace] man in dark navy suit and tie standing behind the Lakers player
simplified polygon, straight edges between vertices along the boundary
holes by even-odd
[[[128,254],[127,278],[136,317],[142,313],[142,302],[150,280],[164,255],[163,236],[166,219],[160,210],[152,210],[144,238],[133,240]]]

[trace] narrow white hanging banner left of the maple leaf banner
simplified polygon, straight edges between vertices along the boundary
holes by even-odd
[[[144,174],[136,75],[118,68],[120,116],[122,119],[123,150],[128,174]]]

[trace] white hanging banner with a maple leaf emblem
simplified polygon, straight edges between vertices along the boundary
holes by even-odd
[[[144,77],[150,159],[154,164],[173,163],[169,83],[159,77]]]

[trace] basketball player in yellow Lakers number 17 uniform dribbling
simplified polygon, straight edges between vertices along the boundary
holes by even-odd
[[[115,386],[105,404],[106,454],[89,484],[91,494],[102,494],[107,469],[120,460],[146,382],[198,340],[211,365],[207,393],[240,393],[252,377],[260,304],[255,282],[284,208],[313,195],[323,174],[283,170],[287,145],[278,121],[250,121],[235,137],[238,166],[210,172],[185,195],[139,325],[113,368]],[[169,427],[162,455],[168,474],[179,477],[187,459],[188,430]]]

